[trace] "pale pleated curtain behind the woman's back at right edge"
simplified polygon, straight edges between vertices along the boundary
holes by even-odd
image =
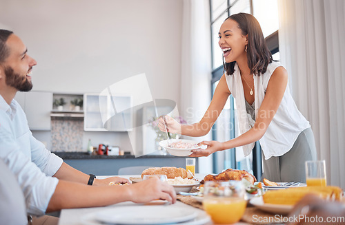
[[[328,184],[345,189],[344,0],[279,0],[279,52]]]

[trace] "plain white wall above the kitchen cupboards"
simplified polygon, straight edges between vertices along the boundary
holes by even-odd
[[[182,0],[1,0],[0,28],[38,62],[34,91],[101,92],[146,73],[153,98],[179,102]]]

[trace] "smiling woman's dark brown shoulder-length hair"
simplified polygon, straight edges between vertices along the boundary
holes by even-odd
[[[227,19],[236,21],[239,29],[242,30],[243,35],[248,34],[247,58],[250,73],[255,75],[264,74],[267,70],[268,64],[272,63],[273,58],[270,50],[268,50],[264,34],[262,34],[262,30],[257,19],[255,19],[251,14],[243,12],[233,14],[226,18],[226,20]],[[233,75],[235,71],[235,63],[236,61],[230,63],[225,63],[223,61],[226,74]]]

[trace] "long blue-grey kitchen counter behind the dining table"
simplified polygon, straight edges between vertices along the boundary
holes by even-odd
[[[123,167],[182,167],[186,168],[187,157],[146,155],[135,157],[125,156],[92,156],[86,152],[53,152],[71,167],[86,174],[118,175]],[[195,170],[198,173],[198,160],[196,158]]]

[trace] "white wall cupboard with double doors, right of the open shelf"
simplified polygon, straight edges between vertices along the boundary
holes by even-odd
[[[118,94],[84,94],[84,131],[130,131],[132,98]]]

